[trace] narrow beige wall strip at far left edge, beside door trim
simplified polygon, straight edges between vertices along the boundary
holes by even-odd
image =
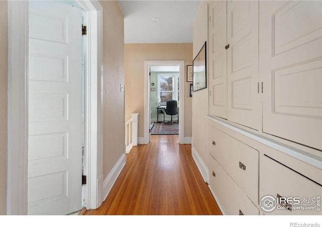
[[[8,3],[0,1],[0,215],[7,213]]]

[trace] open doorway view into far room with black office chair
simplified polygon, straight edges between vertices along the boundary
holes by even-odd
[[[150,67],[150,133],[179,135],[180,67]],[[167,101],[174,107],[167,108]]]

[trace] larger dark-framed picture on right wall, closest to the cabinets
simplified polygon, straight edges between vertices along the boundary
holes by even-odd
[[[193,60],[193,92],[207,87],[207,44],[201,47]]]

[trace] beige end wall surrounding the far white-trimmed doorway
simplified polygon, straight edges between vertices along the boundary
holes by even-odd
[[[192,43],[125,44],[125,120],[131,112],[139,112],[139,137],[143,137],[144,117],[144,61],[185,61],[192,65]],[[192,98],[189,83],[185,83],[184,137],[192,137]],[[182,99],[181,99],[182,100]]]

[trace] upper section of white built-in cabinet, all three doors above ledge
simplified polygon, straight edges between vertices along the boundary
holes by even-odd
[[[322,150],[322,2],[208,10],[209,115]]]

